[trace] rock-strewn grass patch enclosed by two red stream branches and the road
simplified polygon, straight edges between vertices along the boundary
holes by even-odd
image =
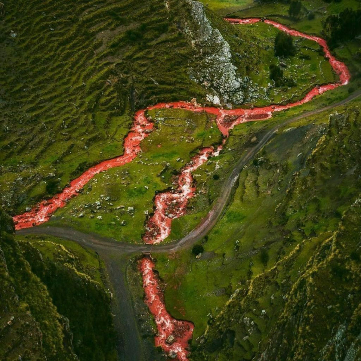
[[[130,164],[97,175],[84,192],[57,210],[49,224],[66,223],[117,240],[142,242],[155,193],[176,187],[178,171],[191,156],[222,141],[210,114],[161,109],[148,115],[155,130],[143,140],[143,152]]]

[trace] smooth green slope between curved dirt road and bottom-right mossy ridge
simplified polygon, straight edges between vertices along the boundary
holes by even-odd
[[[347,120],[332,121],[329,133],[327,113],[304,119],[296,129],[279,132],[258,155],[258,165],[251,165],[240,174],[234,200],[208,235],[200,260],[193,258],[190,250],[157,256],[157,269],[168,284],[167,306],[175,317],[195,322],[196,338],[240,284],[245,285],[270,268],[303,239],[337,228],[342,212],[359,189],[357,172],[347,171],[354,170],[359,151],[358,100],[347,109],[338,109]],[[338,122],[345,126],[340,127],[342,134],[335,140],[332,132],[339,127]],[[242,126],[235,132],[241,135]],[[320,137],[322,146],[317,145]],[[310,156],[313,149],[317,151]],[[323,158],[330,159],[331,155],[328,169]],[[312,164],[317,176],[311,177],[308,171]],[[343,176],[334,177],[335,172]],[[331,179],[327,174],[332,175]],[[309,184],[306,186],[305,182]],[[268,253],[266,264],[261,258],[262,249]]]

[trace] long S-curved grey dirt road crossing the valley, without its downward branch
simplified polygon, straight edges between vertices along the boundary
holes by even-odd
[[[35,226],[31,228],[25,228],[16,231],[16,234],[27,235],[27,234],[38,234],[38,235],[52,235],[64,239],[69,239],[79,243],[84,247],[89,247],[96,251],[100,251],[103,254],[124,254],[124,253],[136,253],[136,252],[152,252],[152,253],[161,253],[161,252],[175,252],[179,249],[186,248],[198,240],[203,238],[208,232],[214,227],[217,223],[217,220],[221,216],[223,209],[229,203],[230,196],[234,184],[236,183],[239,173],[242,168],[248,164],[248,162],[256,155],[256,153],[272,138],[275,132],[280,127],[283,127],[289,123],[295,122],[302,118],[319,114],[325,110],[335,108],[340,105],[349,103],[350,101],[356,99],[360,96],[361,91],[357,90],[352,93],[346,99],[333,103],[331,105],[324,106],[323,108],[310,110],[308,112],[302,113],[299,116],[287,119],[286,121],[278,123],[272,129],[270,129],[260,141],[248,152],[239,159],[236,166],[234,167],[232,173],[223,184],[221,195],[214,202],[214,206],[208,212],[208,214],[201,220],[199,225],[188,233],[183,238],[170,242],[164,245],[151,245],[151,244],[130,244],[126,242],[119,242],[113,238],[106,238],[95,234],[88,234],[81,231],[74,230],[70,227],[55,227],[55,226]]]

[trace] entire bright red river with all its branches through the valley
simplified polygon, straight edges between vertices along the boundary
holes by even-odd
[[[326,41],[317,36],[304,34],[302,32],[289,29],[288,27],[271,20],[261,20],[259,18],[248,19],[225,19],[232,24],[253,24],[264,21],[265,23],[277,27],[277,29],[287,32],[292,36],[299,36],[317,42],[325,53],[325,58],[329,61],[332,69],[339,76],[339,82],[316,86],[310,90],[303,99],[286,105],[269,105],[253,109],[231,109],[225,110],[216,107],[202,107],[193,103],[178,101],[174,103],[159,103],[149,106],[146,109],[138,110],[134,116],[134,123],[124,140],[124,154],[110,160],[105,160],[89,168],[78,178],[70,182],[69,186],[52,197],[40,202],[30,212],[13,217],[15,229],[32,227],[47,222],[51,215],[61,207],[64,207],[69,199],[77,196],[79,190],[87,184],[94,175],[113,167],[119,167],[134,160],[140,151],[140,143],[153,129],[153,123],[147,118],[146,112],[151,109],[177,108],[187,109],[193,112],[208,112],[217,116],[216,122],[219,130],[227,137],[229,130],[234,126],[249,122],[269,119],[273,112],[279,112],[301,105],[310,101],[313,97],[321,95],[327,90],[334,89],[349,82],[350,74],[347,66],[337,60],[330,52]],[[155,197],[155,210],[149,218],[143,240],[145,243],[155,244],[162,242],[170,234],[171,222],[173,218],[186,214],[188,200],[195,195],[195,186],[192,172],[209,157],[214,157],[221,151],[222,145],[217,149],[204,148],[191,161],[181,169],[178,177],[178,187],[175,190],[158,193]],[[143,288],[145,292],[145,303],[155,318],[158,333],[155,336],[156,346],[169,355],[173,355],[180,361],[187,361],[188,341],[192,338],[193,324],[187,321],[180,321],[170,316],[166,310],[163,294],[160,290],[159,280],[153,272],[154,264],[150,258],[144,257],[139,262],[139,269],[142,272]],[[169,336],[173,338],[168,339]]]

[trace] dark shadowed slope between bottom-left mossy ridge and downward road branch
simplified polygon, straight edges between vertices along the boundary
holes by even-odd
[[[17,236],[17,240],[58,312],[69,319],[79,360],[117,360],[110,291],[95,253],[55,237]]]

